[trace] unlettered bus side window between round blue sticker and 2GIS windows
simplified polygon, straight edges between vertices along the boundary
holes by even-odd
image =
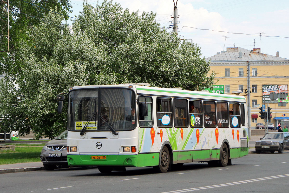
[[[174,98],[174,125],[188,127],[188,100]]]

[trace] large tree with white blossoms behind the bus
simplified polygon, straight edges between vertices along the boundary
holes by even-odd
[[[71,86],[147,82],[201,90],[213,84],[199,47],[161,30],[152,12],[129,13],[104,1],[96,8],[84,4],[73,31],[62,15],[49,12],[43,19],[55,25],[41,21],[27,32],[19,73],[0,82],[0,112],[21,134],[30,128],[37,139],[60,134],[67,105],[58,115],[56,96]]]

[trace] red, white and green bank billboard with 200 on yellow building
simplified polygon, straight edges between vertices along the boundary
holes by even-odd
[[[278,98],[275,101],[270,100],[270,93],[275,92],[277,95],[281,92],[285,92],[288,95],[288,85],[287,84],[274,84],[274,85],[262,85],[262,101],[264,103],[264,97],[265,102],[269,103],[278,103]]]

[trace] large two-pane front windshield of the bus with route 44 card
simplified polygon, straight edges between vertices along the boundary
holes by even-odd
[[[136,97],[130,89],[81,89],[71,91],[68,130],[111,131],[136,128]]]

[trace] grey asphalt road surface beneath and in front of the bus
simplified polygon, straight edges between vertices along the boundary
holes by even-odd
[[[97,168],[57,169],[0,175],[0,192],[289,192],[289,152],[249,154],[232,166],[186,163],[155,173],[152,167],[102,174]]]

